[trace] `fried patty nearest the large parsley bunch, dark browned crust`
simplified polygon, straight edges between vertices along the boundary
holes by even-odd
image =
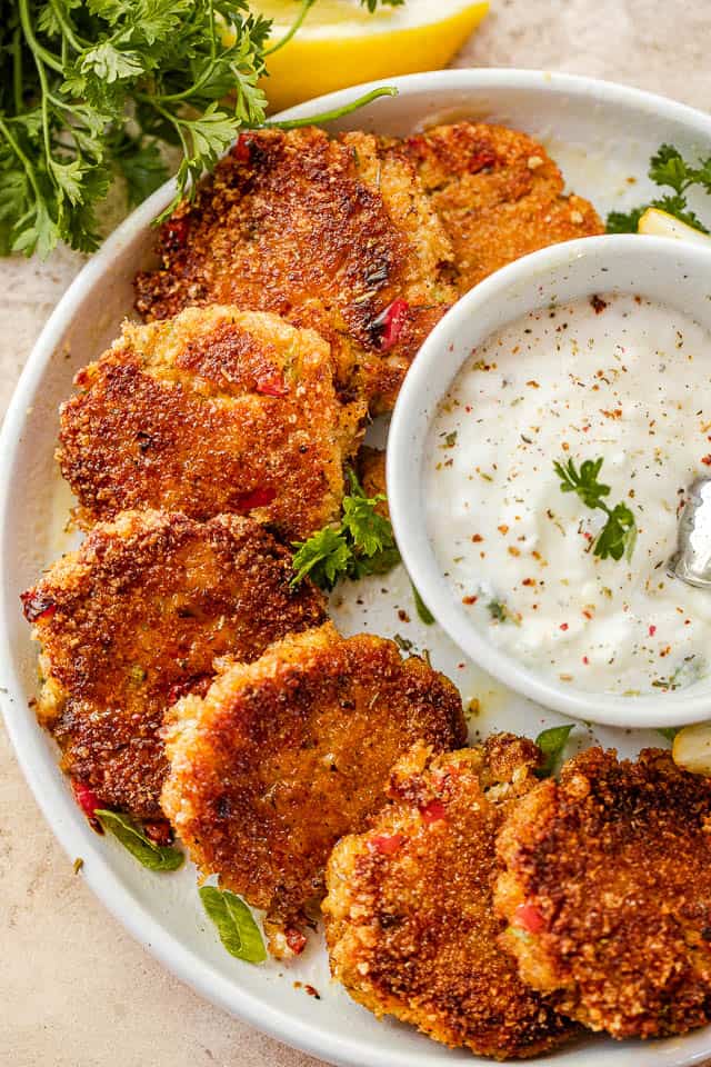
[[[341,389],[392,407],[420,343],[455,297],[451,245],[404,154],[368,134],[260,130],[163,225],[137,309],[274,311],[332,346]],[[382,156],[382,158],[381,158]]]

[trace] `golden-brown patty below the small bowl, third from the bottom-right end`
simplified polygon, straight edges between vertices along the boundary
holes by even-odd
[[[329,622],[226,661],[204,698],[176,705],[162,805],[202,874],[263,908],[272,953],[289,955],[331,848],[378,810],[393,762],[419,738],[464,737],[447,678]]]

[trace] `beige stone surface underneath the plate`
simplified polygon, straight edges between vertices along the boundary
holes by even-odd
[[[711,100],[711,0],[492,0],[458,66],[610,78]],[[81,257],[0,262],[0,405]],[[167,974],[76,876],[0,730],[0,1060],[14,1067],[309,1067]],[[367,1067],[367,1065],[363,1065]]]

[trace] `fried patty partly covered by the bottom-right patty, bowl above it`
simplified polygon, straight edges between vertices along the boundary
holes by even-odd
[[[417,745],[392,771],[390,804],[336,846],[322,905],[331,971],[375,1015],[495,1059],[573,1031],[519,980],[493,913],[495,835],[540,758],[507,734],[443,756]]]

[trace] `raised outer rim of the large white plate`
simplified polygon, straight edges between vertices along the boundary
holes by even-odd
[[[704,114],[685,103],[668,97],[648,92],[614,81],[525,68],[479,68],[450,69],[407,74],[391,79],[379,79],[337,92],[313,98],[280,112],[277,118],[306,118],[321,110],[342,107],[360,93],[380,86],[385,81],[395,86],[402,96],[409,96],[422,88],[437,87],[450,90],[482,89],[525,89],[540,88],[541,83],[551,91],[568,92],[575,97],[591,97],[602,102],[615,102],[637,106],[650,117],[668,117],[694,128],[711,140],[711,116]],[[107,238],[101,248],[82,267],[67,291],[62,295],[47,323],[41,330],[28,360],[22,369],[12,398],[6,412],[0,431],[0,677],[6,687],[1,694],[6,729],[10,737],[16,758],[34,799],[49,824],[56,838],[70,859],[74,856],[91,854],[91,862],[84,865],[84,880],[94,896],[118,919],[118,921],[148,949],[177,978],[233,1017],[253,1026],[261,1033],[281,1040],[293,1048],[326,1059],[338,1067],[362,1067],[367,1051],[369,1067],[409,1067],[407,1051],[363,1048],[358,1037],[326,1035],[316,1025],[307,1023],[290,1011],[266,1005],[260,997],[249,990],[239,990],[239,1003],[230,996],[220,974],[184,944],[164,929],[146,907],[134,897],[118,872],[103,858],[100,849],[93,845],[90,835],[76,817],[73,801],[66,788],[61,774],[47,778],[43,771],[43,758],[40,749],[44,739],[38,735],[37,725],[24,707],[24,695],[17,666],[10,655],[9,620],[17,612],[14,599],[10,602],[8,574],[4,566],[4,547],[11,538],[9,515],[11,509],[11,473],[17,466],[18,451],[23,447],[22,431],[27,407],[36,387],[41,381],[58,343],[71,325],[76,307],[87,296],[93,285],[111,267],[126,242],[136,233],[150,226],[152,219],[170,202],[174,195],[176,182],[170,179],[151,197],[132,211],[124,221]],[[18,714],[21,709],[21,714]],[[228,991],[226,991],[226,989]],[[328,1041],[328,1047],[326,1043]],[[680,1046],[684,1041],[681,1040]],[[707,1047],[685,1054],[679,1048],[679,1055],[664,1059],[665,1067],[691,1067],[701,1064],[711,1053],[711,1027]],[[435,1047],[437,1053],[443,1047]],[[439,1056],[438,1056],[439,1059]],[[433,1060],[434,1061],[434,1060]],[[453,1060],[454,1061],[454,1060]]]

